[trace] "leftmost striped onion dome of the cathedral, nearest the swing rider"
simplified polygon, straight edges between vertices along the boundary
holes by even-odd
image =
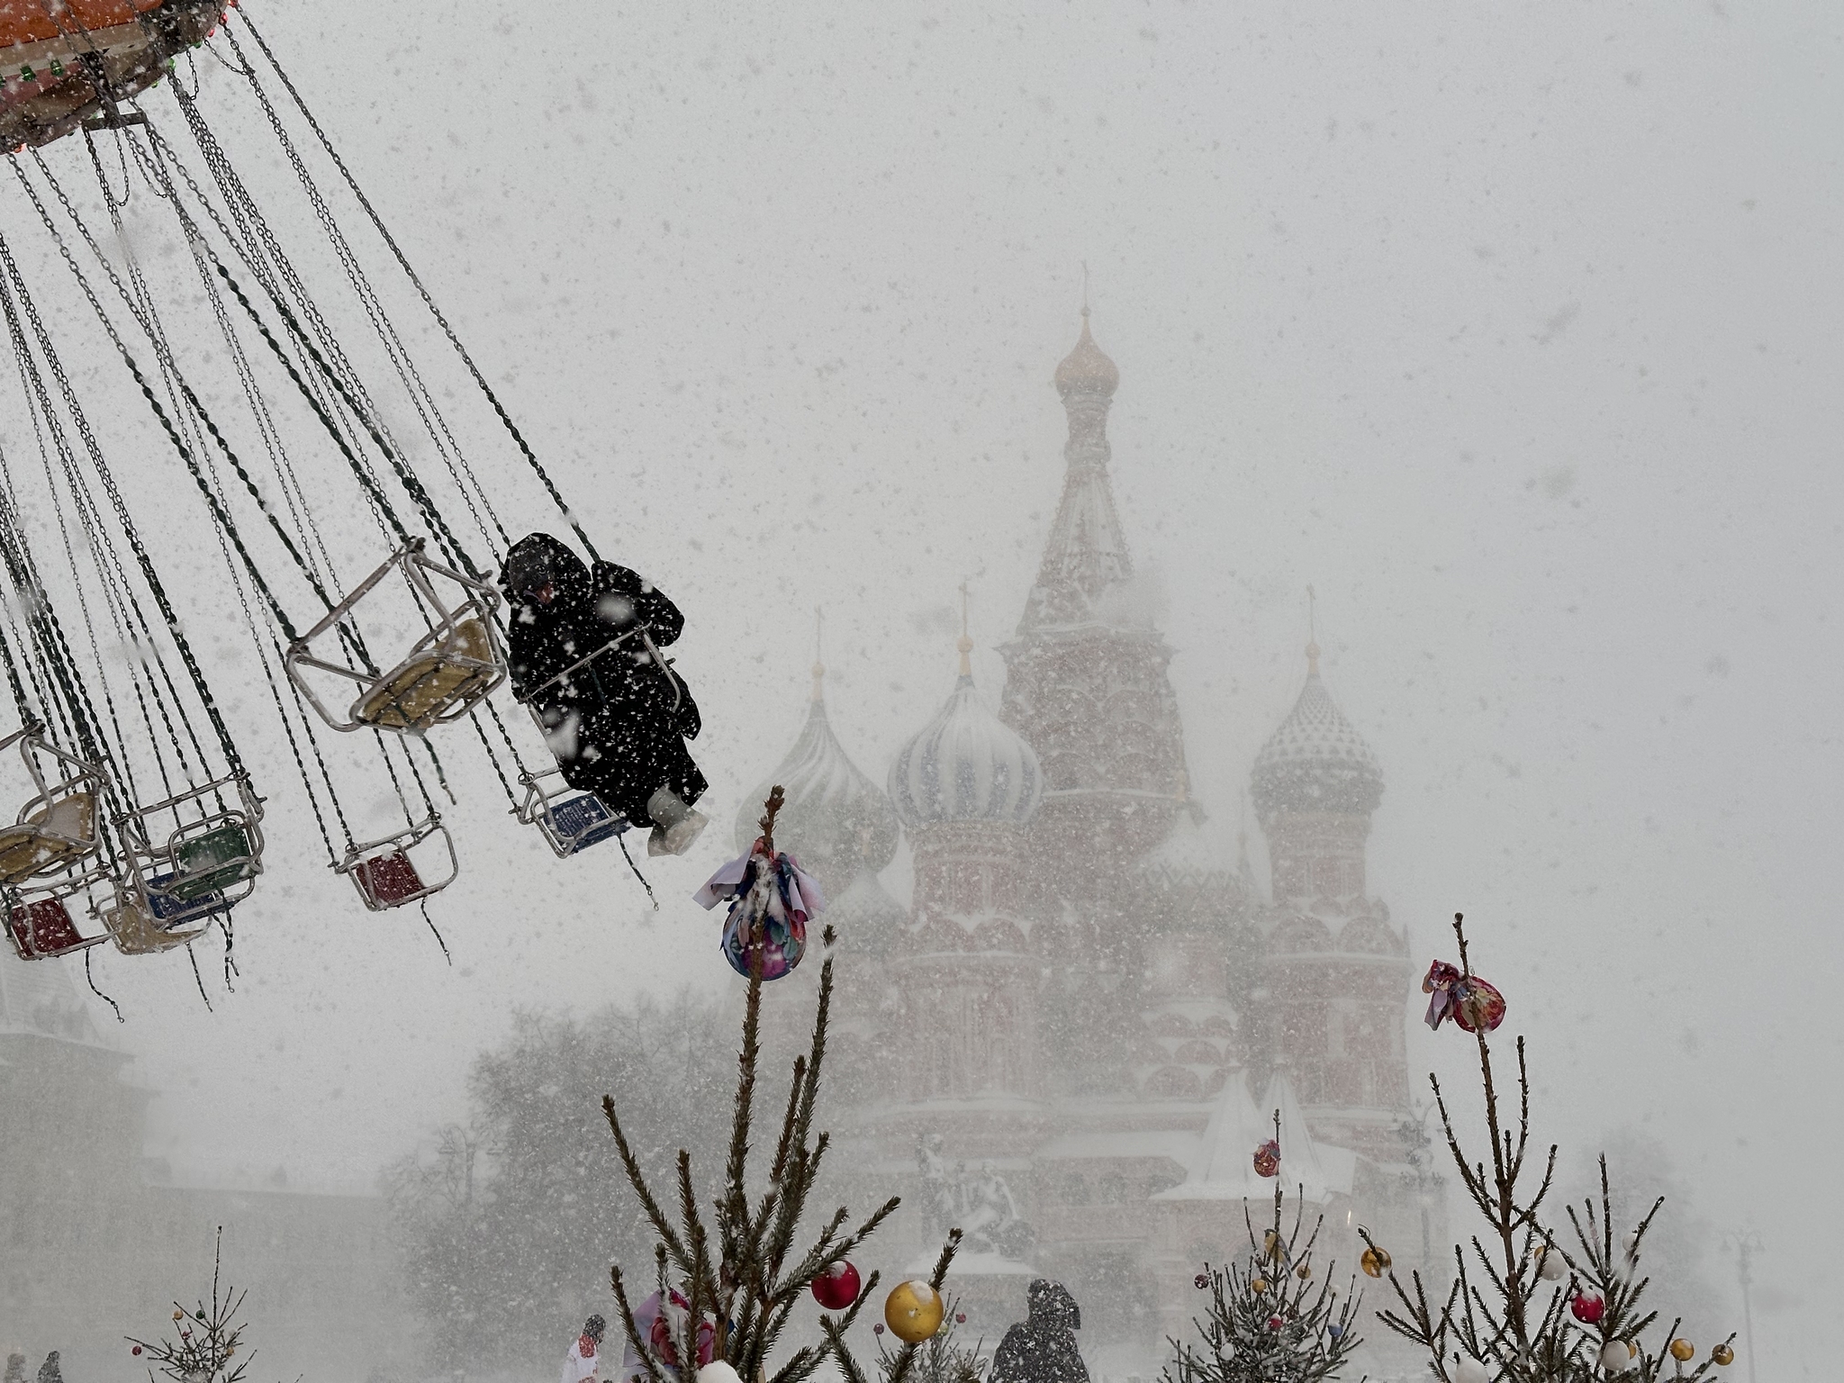
[[[776,846],[817,874],[828,891],[843,889],[861,870],[876,872],[896,854],[896,813],[891,800],[845,754],[826,719],[822,679],[813,664],[813,706],[800,738],[780,767],[736,811],[736,848],[747,854],[760,835],[762,802],[774,784],[786,802],[774,821]]]

